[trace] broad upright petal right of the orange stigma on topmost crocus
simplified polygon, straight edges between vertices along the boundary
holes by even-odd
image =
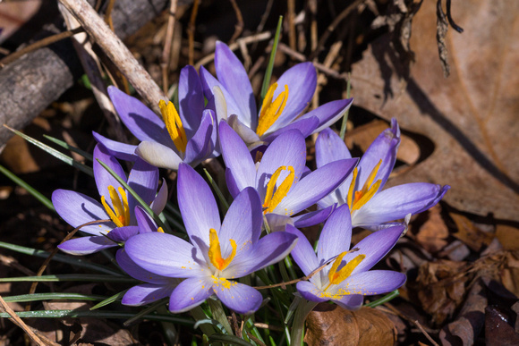
[[[277,80],[277,89],[274,92],[273,99],[276,99],[279,94],[285,91],[285,85],[288,86],[285,110],[271,126],[270,131],[277,131],[277,129],[293,122],[297,115],[310,105],[311,97],[313,97],[317,87],[317,72],[313,64],[298,63],[286,70]]]

